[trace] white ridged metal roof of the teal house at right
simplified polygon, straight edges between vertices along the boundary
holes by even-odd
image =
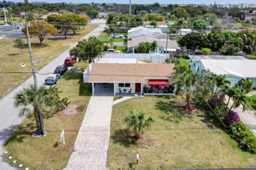
[[[205,70],[246,79],[256,78],[256,60],[201,60]]]

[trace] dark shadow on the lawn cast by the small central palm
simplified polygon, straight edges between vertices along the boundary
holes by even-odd
[[[111,135],[111,139],[113,139],[113,143],[118,143],[124,147],[130,147],[132,145],[136,145],[136,140],[134,136],[131,135],[131,131],[129,129],[118,129],[115,130],[114,135]]]

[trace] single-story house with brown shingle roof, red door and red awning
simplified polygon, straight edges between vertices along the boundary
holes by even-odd
[[[173,68],[174,64],[92,63],[85,73],[93,96],[174,95]]]

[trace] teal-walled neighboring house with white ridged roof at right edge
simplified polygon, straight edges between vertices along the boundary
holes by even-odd
[[[209,70],[217,75],[226,75],[230,86],[242,79],[251,79],[256,88],[256,60],[241,56],[189,56],[190,69],[196,73]]]

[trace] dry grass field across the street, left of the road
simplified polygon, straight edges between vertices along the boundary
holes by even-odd
[[[67,39],[63,37],[50,37],[43,41],[43,46],[40,47],[38,39],[31,38],[32,52],[34,55],[36,70],[42,69],[45,65],[50,63],[54,58],[59,56],[62,52],[72,46],[76,41],[91,32],[97,25],[88,25],[85,29],[77,31],[76,35],[72,32],[68,33]],[[25,45],[22,48],[23,54],[21,54],[20,48],[14,47],[13,40],[16,38],[3,38],[0,39],[0,60],[1,67],[0,72],[21,72],[20,63],[28,64],[24,67],[23,71],[31,71],[29,65],[29,53],[27,47],[27,39],[22,38],[25,41]],[[31,74],[10,73],[0,74],[0,99],[8,94],[11,90],[17,87],[17,84],[21,84],[27,80]]]

